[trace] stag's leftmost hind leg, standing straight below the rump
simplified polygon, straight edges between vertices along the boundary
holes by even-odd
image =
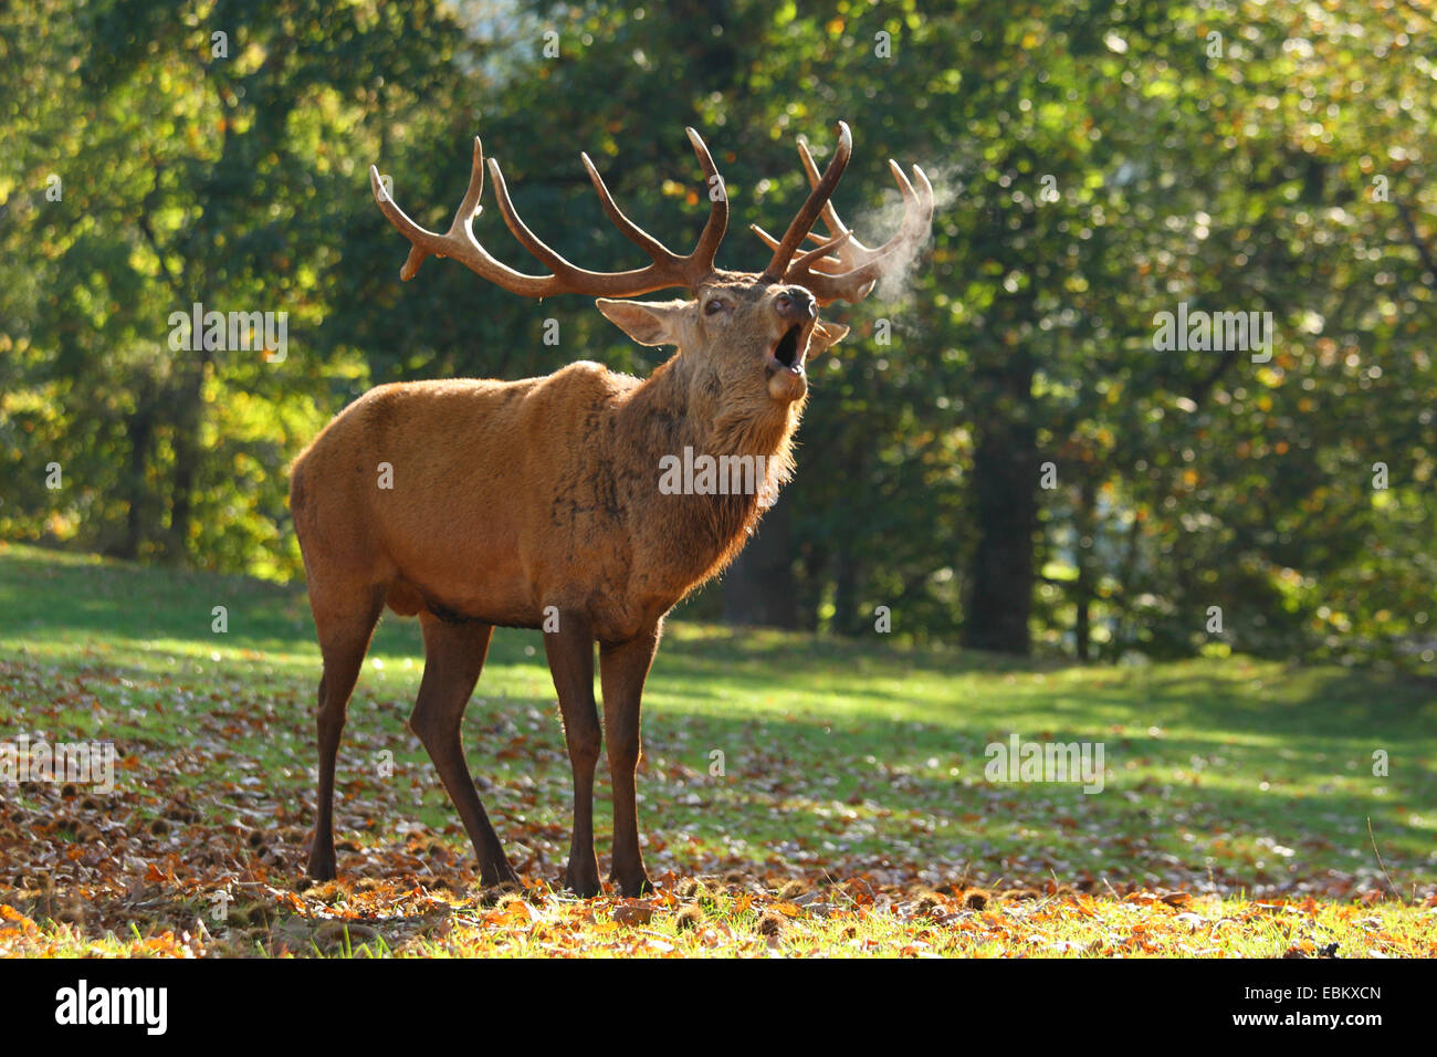
[[[374,626],[384,608],[382,590],[372,591],[349,605],[332,605],[316,585],[310,585],[315,627],[325,672],[319,679],[319,794],[315,805],[315,843],[309,850],[309,876],[315,880],[335,877],[335,759],[339,736],[345,729],[349,695],[364,654],[369,650]]]

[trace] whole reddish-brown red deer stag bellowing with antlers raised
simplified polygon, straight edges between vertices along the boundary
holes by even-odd
[[[614,781],[611,880],[627,896],[651,889],[634,772],[639,695],[664,614],[739,552],[760,513],[757,493],[787,480],[808,393],[805,358],[848,329],[819,321],[818,306],[867,296],[885,272],[912,257],[933,223],[933,187],[923,170],[914,167],[910,183],[890,163],[905,201],[898,233],[878,247],[852,236],[828,201],[852,151],[849,129],[839,124],[838,148],[822,175],[799,145],[812,193],[783,237],[754,229],[773,249],[767,266],[757,275],[718,269],[729,203],[703,139],[694,129],[688,139],[714,188],[708,221],[688,256],[634,224],[581,155],[609,220],[651,259],[629,272],[585,270],[540,242],[514,211],[493,158],[500,216],[549,275],[525,275],[491,257],[471,227],[484,186],[477,138],[468,191],[444,234],[410,220],[371,167],[379,209],[412,243],[404,279],[425,257],[440,256],[525,298],[598,295],[598,309],[634,341],[678,351],[647,380],[576,362],[523,381],[379,385],[336,416],[295,462],[290,509],[323,653],[312,877],[335,876],[335,756],[349,695],[388,605],[420,617],[424,677],[410,728],[474,843],[484,884],[516,877],[464,762],[460,720],[499,624],[545,630],[573,767],[568,884],[581,896],[599,892],[598,641],[602,741]],[[828,239],[810,234],[819,216]],[[805,239],[819,244],[799,253]],[[690,296],[612,299],[665,288]],[[762,457],[764,480],[746,480],[753,486],[739,489],[741,495],[670,495],[673,489],[660,488],[660,469],[665,456],[684,449],[714,459]]]

